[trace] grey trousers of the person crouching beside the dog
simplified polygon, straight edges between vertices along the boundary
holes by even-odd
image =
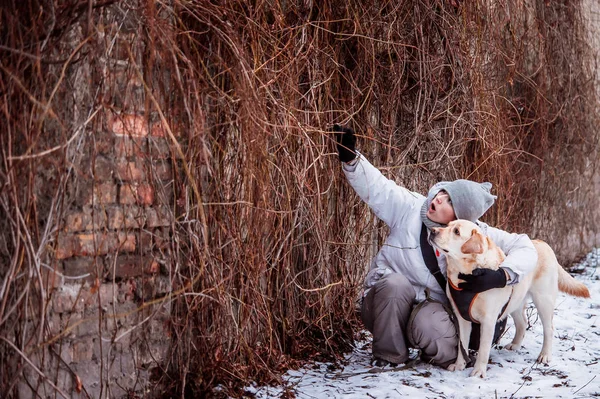
[[[412,347],[421,350],[423,360],[446,367],[458,354],[454,323],[437,302],[426,302],[412,314],[415,298],[414,288],[399,273],[383,277],[363,298],[361,318],[373,334],[373,356],[405,363]]]

